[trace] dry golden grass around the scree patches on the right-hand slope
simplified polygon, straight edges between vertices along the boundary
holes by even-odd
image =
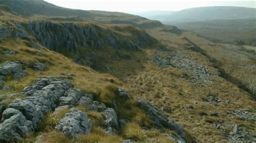
[[[209,55],[214,56],[221,53],[221,51],[217,51],[218,45],[216,47],[210,47],[210,45],[214,45],[214,43],[200,39],[190,33],[185,32],[181,35],[173,35],[171,33],[159,32],[160,29],[161,28],[155,28],[148,30],[148,32],[157,39],[176,40],[177,43],[165,42],[165,44],[172,51],[187,53],[186,57],[199,62],[201,65],[207,66],[211,72],[217,71],[204,55],[181,48],[181,46],[188,44],[183,38],[186,36],[193,39],[193,42],[196,42],[201,48],[204,48]],[[224,120],[225,124],[248,125],[250,127],[246,128],[246,130],[255,133],[253,129],[255,128],[253,125],[254,121],[242,121],[227,114],[227,111],[236,109],[250,109],[251,111],[255,111],[255,102],[251,100],[247,92],[242,91],[236,85],[219,76],[213,76],[212,78],[214,78],[215,82],[208,84],[208,87],[198,87],[193,83],[187,82],[185,78],[181,78],[181,75],[187,73],[184,70],[177,68],[158,68],[154,66],[151,60],[155,51],[155,49],[144,49],[143,58],[147,60],[142,60],[141,64],[143,64],[145,68],[137,68],[137,70],[135,70],[136,72],[120,77],[125,82],[125,85],[131,89],[133,95],[137,95],[139,98],[152,102],[157,105],[159,109],[162,108],[171,119],[188,131],[186,136],[191,140],[193,140],[193,137],[197,137],[200,141],[207,142],[208,137],[211,136],[210,141],[221,141],[220,138],[223,137],[224,132],[213,127],[213,123],[219,124],[220,120]],[[228,60],[232,59],[227,56],[223,57],[227,58],[221,60],[223,62],[230,62]],[[244,62],[244,64],[247,63]],[[255,65],[255,63],[251,64]],[[225,65],[228,68],[227,63],[225,63]],[[119,71],[117,71],[117,73],[118,72]],[[240,76],[244,75],[241,74],[239,70],[237,72]],[[248,73],[248,71],[244,71],[243,73]],[[253,73],[249,75],[253,75]],[[230,101],[230,103],[206,103],[203,101],[203,98],[206,98],[208,93],[215,94],[218,98]],[[192,110],[187,109],[187,106],[190,105],[193,106]],[[220,117],[200,116],[200,112],[207,112],[208,114],[218,112]],[[191,137],[190,134],[193,137]]]

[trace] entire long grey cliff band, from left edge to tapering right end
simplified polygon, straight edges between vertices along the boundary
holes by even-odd
[[[32,35],[42,46],[53,51],[69,51],[78,54],[78,48],[102,48],[111,46],[117,49],[137,50],[156,42],[149,34],[137,30],[138,35],[122,35],[97,25],[73,23],[29,22],[15,23],[17,30],[8,24],[0,25],[0,38],[23,38],[36,46]]]

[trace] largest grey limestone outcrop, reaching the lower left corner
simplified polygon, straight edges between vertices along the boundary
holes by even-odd
[[[72,83],[63,78],[38,78],[29,87],[24,88],[23,94],[28,97],[14,99],[8,105],[3,113],[4,122],[0,126],[4,129],[0,130],[0,134],[17,136],[15,140],[18,140],[18,137],[30,133],[31,128],[36,130],[45,113],[55,109],[59,98],[69,89],[72,89]],[[12,128],[11,133],[8,128]],[[13,139],[12,136],[4,136],[0,140]]]

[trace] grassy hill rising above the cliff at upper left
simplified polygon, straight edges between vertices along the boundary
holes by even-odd
[[[75,10],[62,8],[43,0],[0,0],[0,5],[23,17],[36,20],[88,21],[106,24],[131,24],[141,28],[163,26],[157,20],[122,12]]]

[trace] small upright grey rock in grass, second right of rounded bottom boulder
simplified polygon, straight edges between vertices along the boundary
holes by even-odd
[[[103,112],[105,119],[106,133],[107,134],[117,134],[119,125],[117,123],[117,114],[112,108],[107,108]]]

